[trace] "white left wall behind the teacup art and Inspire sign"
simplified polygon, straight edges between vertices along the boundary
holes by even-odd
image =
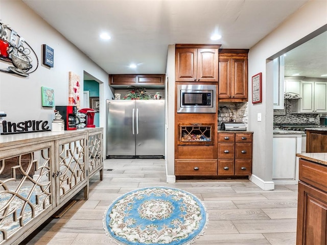
[[[83,100],[84,72],[100,82],[100,111],[105,112],[105,99],[111,98],[108,74],[78,50],[71,42],[54,30],[20,0],[0,0],[1,22],[15,30],[34,49],[39,66],[28,78],[0,72],[0,111],[5,111],[8,121],[48,120],[54,118],[54,108],[42,107],[41,86],[53,88],[55,104],[68,105],[68,72],[81,78]],[[54,49],[54,67],[42,65],[42,44]],[[7,69],[10,63],[0,61],[0,68]],[[33,69],[33,68],[32,68]],[[81,101],[81,104],[83,101]],[[105,113],[102,113],[105,114]],[[105,116],[100,115],[100,127],[105,128]]]

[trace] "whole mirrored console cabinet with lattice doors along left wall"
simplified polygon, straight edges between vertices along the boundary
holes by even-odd
[[[0,137],[0,244],[19,244],[103,175],[103,129]]]

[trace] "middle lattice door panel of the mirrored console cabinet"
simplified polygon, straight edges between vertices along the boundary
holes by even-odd
[[[56,184],[57,205],[65,198],[72,198],[79,187],[88,185],[86,134],[56,141],[58,156]],[[84,192],[85,193],[85,192]],[[87,199],[87,197],[84,198]]]

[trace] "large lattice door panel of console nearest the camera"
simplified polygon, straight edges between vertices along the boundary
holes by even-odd
[[[1,151],[0,244],[24,236],[55,208],[54,162],[54,142]]]

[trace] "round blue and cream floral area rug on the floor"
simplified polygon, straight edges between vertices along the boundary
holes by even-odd
[[[117,244],[186,245],[203,234],[207,214],[195,195],[175,188],[133,190],[106,210],[104,229]]]

